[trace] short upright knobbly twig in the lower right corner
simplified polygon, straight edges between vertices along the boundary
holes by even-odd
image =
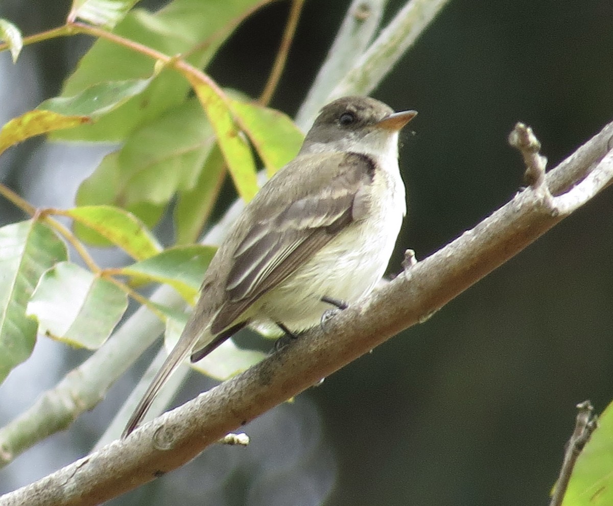
[[[592,417],[594,408],[590,401],[584,401],[577,404],[577,410],[577,419],[573,435],[566,444],[562,469],[560,469],[560,475],[555,484],[554,494],[551,497],[549,506],[560,506],[562,504],[577,457],[579,457],[585,444],[590,439],[590,436],[592,436],[592,432],[598,425],[596,417]]]

